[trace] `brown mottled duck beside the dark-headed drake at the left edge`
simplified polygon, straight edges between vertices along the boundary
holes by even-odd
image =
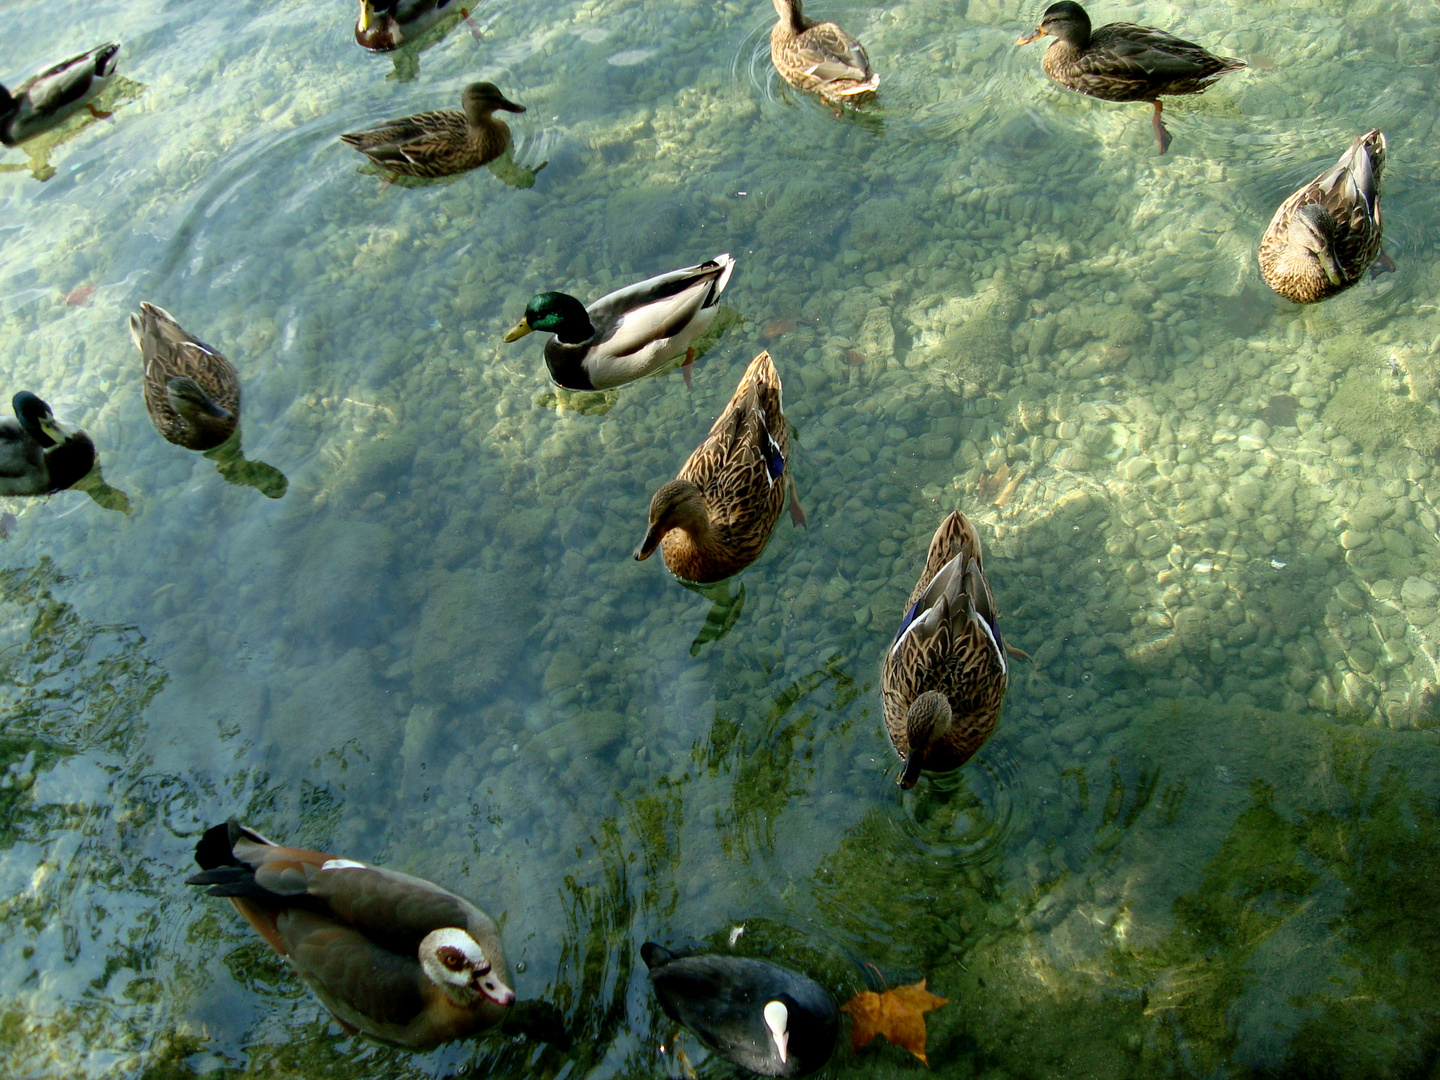
[[[235,366],[186,333],[164,308],[141,301],[130,336],[144,361],[145,409],[168,442],[215,449],[240,422],[240,377]]]

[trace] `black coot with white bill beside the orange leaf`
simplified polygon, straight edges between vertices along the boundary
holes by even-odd
[[[814,979],[739,956],[675,956],[654,942],[639,955],[655,995],[713,1053],[762,1076],[806,1076],[829,1061],[835,999]]]

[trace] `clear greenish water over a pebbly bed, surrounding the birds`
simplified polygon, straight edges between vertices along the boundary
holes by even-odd
[[[838,999],[927,978],[940,1076],[1430,1074],[1433,10],[1096,4],[1253,62],[1158,157],[1146,107],[1014,48],[1040,7],[815,0],[883,78],[842,120],[775,76],[766,0],[484,0],[399,60],[338,1],[0,9],[7,82],[108,39],[127,81],[0,156],[3,396],[130,504],[4,507],[9,1076],[680,1076],[651,937]],[[337,141],[477,78],[528,107],[528,190]],[[1295,308],[1259,236],[1371,127],[1397,271]],[[536,291],[726,251],[743,321],[693,392],[556,395],[500,343]],[[157,436],[141,300],[238,364],[282,498]],[[708,600],[629,552],[760,347],[809,528],[693,655]],[[955,507],[1034,660],[901,793],[878,662]],[[465,893],[554,1008],[429,1056],[346,1035],[183,884],[230,815]]]

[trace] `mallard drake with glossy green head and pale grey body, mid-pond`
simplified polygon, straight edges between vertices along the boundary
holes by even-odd
[[[544,363],[556,384],[569,390],[622,386],[677,356],[685,357],[688,383],[694,363],[690,346],[714,321],[733,271],[734,259],[716,255],[608,292],[589,307],[564,292],[540,292],[505,341],[518,341],[531,330],[554,334],[546,341]]]

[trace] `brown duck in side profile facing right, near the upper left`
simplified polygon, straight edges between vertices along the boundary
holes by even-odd
[[[524,112],[492,82],[472,82],[461,94],[461,109],[420,112],[377,124],[340,138],[377,166],[405,176],[465,173],[494,161],[510,145],[510,127],[495,109]]]

